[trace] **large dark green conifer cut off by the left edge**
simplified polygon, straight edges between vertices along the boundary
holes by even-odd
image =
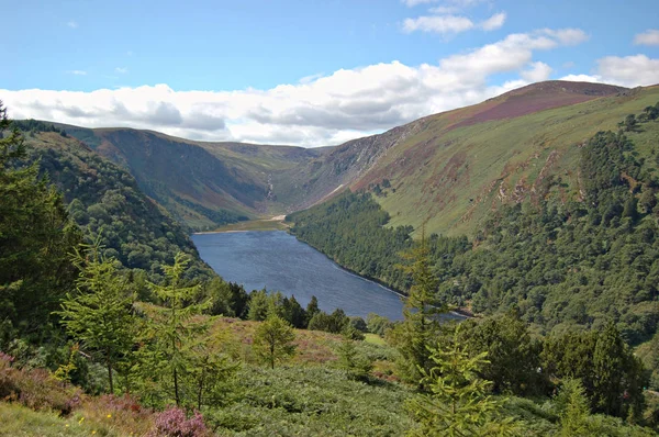
[[[77,276],[69,254],[81,240],[62,194],[24,166],[23,136],[0,101],[0,321],[43,335]],[[2,335],[4,334],[4,335]],[[0,338],[15,333],[0,333]],[[0,345],[1,347],[2,345]]]

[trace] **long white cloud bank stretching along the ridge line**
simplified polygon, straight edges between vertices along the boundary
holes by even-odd
[[[0,90],[0,98],[15,119],[152,128],[209,141],[324,146],[546,79],[549,66],[534,61],[534,55],[563,45],[558,35],[512,34],[437,64],[394,60],[266,90],[176,91],[156,85],[90,92]],[[498,74],[517,78],[490,85]]]

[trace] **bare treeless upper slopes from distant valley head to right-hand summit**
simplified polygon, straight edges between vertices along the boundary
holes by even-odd
[[[488,211],[546,195],[554,178],[557,195],[577,199],[580,145],[657,101],[657,86],[547,81],[322,148],[56,126],[125,168],[190,229],[288,214],[351,189],[371,191],[392,225],[473,235]]]

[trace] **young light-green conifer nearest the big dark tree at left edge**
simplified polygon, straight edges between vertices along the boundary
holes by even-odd
[[[76,253],[80,270],[76,293],[62,303],[62,324],[83,347],[102,357],[108,369],[110,393],[114,392],[113,368],[131,354],[134,344],[134,294],[127,290],[113,259],[105,259],[98,245],[86,255]]]

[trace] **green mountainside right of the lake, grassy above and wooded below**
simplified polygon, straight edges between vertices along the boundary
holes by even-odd
[[[290,214],[291,232],[405,291],[399,254],[425,222],[444,302],[513,311],[541,334],[613,321],[628,343],[649,340],[659,321],[659,87],[465,126],[491,108],[469,110],[426,119],[410,135],[416,154],[390,148],[354,184],[370,192]]]

